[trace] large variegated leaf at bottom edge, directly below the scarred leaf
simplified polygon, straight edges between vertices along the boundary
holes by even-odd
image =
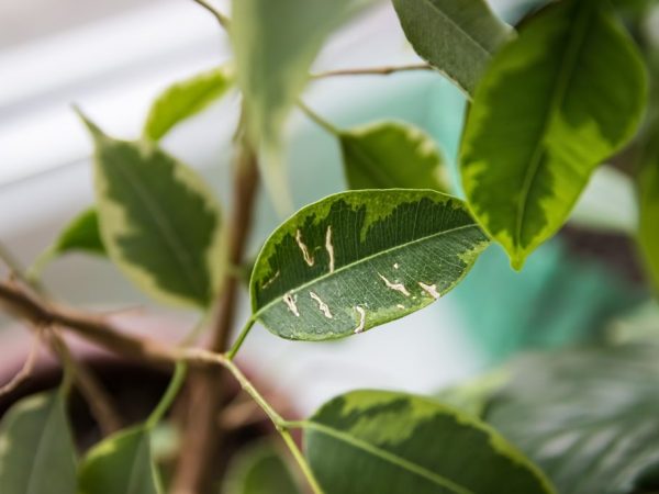
[[[496,431],[417,396],[356,391],[303,423],[325,494],[552,493]]]

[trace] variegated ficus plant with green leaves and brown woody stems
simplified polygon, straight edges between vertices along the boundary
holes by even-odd
[[[94,203],[31,269],[11,266],[12,277],[0,283],[2,305],[31,323],[64,368],[56,390],[18,401],[2,418],[0,492],[659,492],[659,348],[650,341],[528,356],[503,374],[437,396],[356,390],[302,419],[280,414],[234,361],[255,326],[324,341],[404,317],[450,292],[493,244],[523,269],[606,162],[623,160],[638,183],[636,239],[647,279],[659,288],[655,2],[536,1],[510,25],[484,0],[393,0],[423,63],[314,75],[328,35],[365,2],[235,0],[231,18],[197,2],[228,33],[233,61],[164,91],[135,141],[112,137],[76,109],[94,147]],[[415,126],[339,128],[302,101],[319,78],[399,70],[435,71],[463,92],[459,186],[447,178],[444,153]],[[213,187],[159,141],[232,91],[241,94],[241,117],[225,213]],[[283,128],[294,111],[336,139],[347,190],[291,215]],[[245,245],[259,180],[288,218],[254,261]],[[104,257],[155,301],[197,311],[208,345],[198,343],[197,329],[170,345],[55,303],[40,274],[70,251]],[[245,272],[252,314],[239,322]],[[243,329],[232,340],[236,324]],[[74,386],[93,385],[66,333],[172,369],[148,417],[85,451],[72,439],[67,404]],[[219,485],[216,417],[230,378],[289,453],[270,440],[247,445]],[[186,383],[203,400],[189,398],[186,414],[169,414]],[[98,390],[83,394],[100,400]],[[182,437],[168,475],[152,446],[163,424]]]

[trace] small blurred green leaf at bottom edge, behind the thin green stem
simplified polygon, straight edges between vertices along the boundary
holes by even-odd
[[[301,494],[287,461],[271,442],[241,450],[226,472],[224,494]]]

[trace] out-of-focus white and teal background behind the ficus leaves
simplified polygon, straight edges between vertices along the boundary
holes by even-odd
[[[493,7],[514,21],[530,3]],[[91,143],[71,103],[110,134],[137,138],[159,91],[230,59],[225,33],[190,0],[0,0],[0,242],[30,266],[91,205]],[[334,35],[315,69],[414,61],[390,3],[375,2]],[[424,128],[442,147],[460,194],[455,161],[466,102],[442,76],[319,80],[310,83],[305,101],[340,127],[395,119]],[[199,169],[226,206],[237,110],[233,94],[163,143]],[[332,136],[301,114],[291,117],[288,135],[297,206],[346,188]],[[252,255],[281,220],[261,194]],[[257,328],[241,359],[308,413],[349,389],[432,393],[522,348],[600,338],[625,321],[657,313],[629,239],[635,224],[632,183],[604,166],[568,227],[523,272],[514,272],[492,246],[460,287],[403,321],[332,344],[291,344]],[[67,256],[47,268],[44,282],[63,302],[118,313],[127,328],[154,338],[174,340],[196,323],[194,314],[152,304],[100,258]],[[239,319],[247,316],[245,297]],[[24,328],[3,316],[0,328],[4,380],[31,344]]]

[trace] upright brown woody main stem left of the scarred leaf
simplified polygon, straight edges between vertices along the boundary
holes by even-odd
[[[232,267],[243,263],[243,255],[250,231],[258,167],[256,155],[245,136],[238,136],[238,154],[234,176],[233,216],[228,225],[228,262]],[[234,326],[236,302],[241,280],[231,270],[217,303],[212,324],[210,350],[225,351]],[[182,454],[174,480],[175,494],[200,494],[213,492],[213,476],[221,451],[223,430],[217,422],[226,396],[224,372],[213,367],[198,370],[192,375],[188,397],[188,419],[183,435]]]

